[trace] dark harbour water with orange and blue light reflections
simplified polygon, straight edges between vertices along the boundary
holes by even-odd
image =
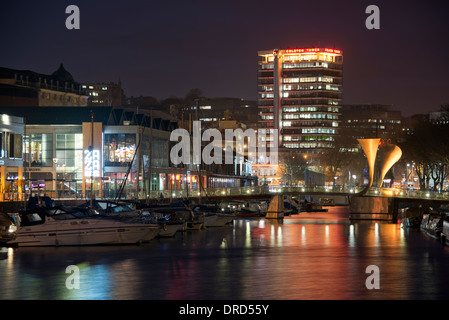
[[[428,300],[449,298],[449,247],[347,207],[129,246],[0,248],[0,299]],[[378,267],[379,289],[366,286]],[[79,270],[69,289],[68,266]]]

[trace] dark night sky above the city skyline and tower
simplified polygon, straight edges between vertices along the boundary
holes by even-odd
[[[0,66],[78,82],[117,82],[127,96],[257,99],[257,51],[343,50],[343,103],[385,103],[403,115],[449,103],[449,2],[365,0],[2,1]],[[68,5],[81,29],[68,30]],[[380,9],[367,30],[365,9]]]

